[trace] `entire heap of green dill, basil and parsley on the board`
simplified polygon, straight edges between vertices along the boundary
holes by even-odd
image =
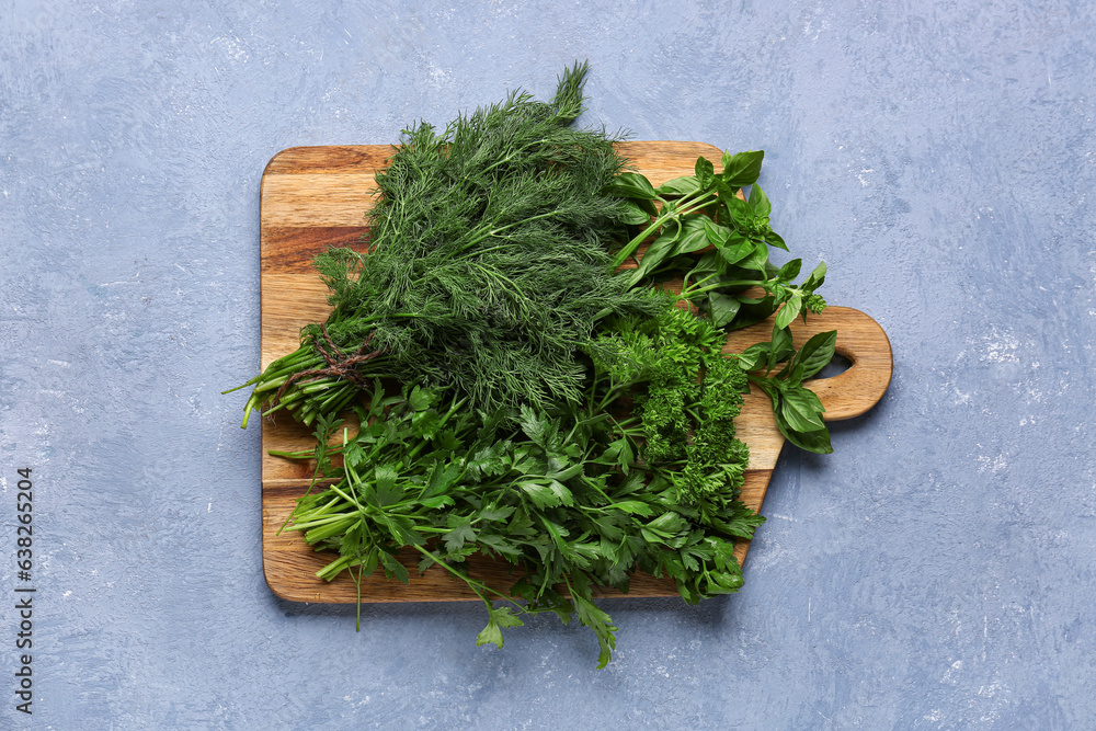
[[[803,381],[835,333],[792,344],[792,321],[825,307],[825,265],[797,284],[800,260],[769,261],[787,245],[756,184],[764,153],[724,153],[719,173],[700,158],[654,187],[613,138],[573,128],[585,73],[566,71],[551,103],[512,94],[404,133],[365,251],[316,262],[331,316],[247,384],[243,424],[285,409],[316,427],[315,449],[271,454],[315,459],[285,527],[338,553],[317,575],[406,582],[412,551],[484,602],[479,644],[555,612],[594,630],[604,666],[616,628],[594,586],[627,591],[636,570],[690,603],[741,586],[734,541],[764,519],[739,500],[742,395],[755,386],[790,442],[831,452]],[[680,296],[658,286],[676,277]],[[722,353],[774,313],[769,341]],[[359,431],[331,447],[347,409]],[[488,586],[476,555],[524,574]]]

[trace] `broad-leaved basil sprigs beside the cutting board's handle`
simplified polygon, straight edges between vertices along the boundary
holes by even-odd
[[[633,285],[681,277],[682,300],[727,332],[776,313],[772,340],[750,347],[741,363],[752,372],[751,382],[773,401],[780,433],[798,447],[826,454],[833,447],[822,422],[825,409],[802,381],[831,361],[836,332],[815,335],[797,354],[788,329],[797,317],[806,321],[808,313],[825,309],[825,300],[815,293],[825,282],[825,262],[795,284],[802,260],[781,266],[769,261],[769,247],[785,251],[788,247],[769,224],[773,206],[757,184],[764,157],[760,150],[724,152],[719,173],[701,157],[695,174],[659,187],[639,173],[621,173],[612,190],[631,202],[631,220],[641,230],[619,249],[613,263],[623,265],[636,256],[653,236],[630,274]],[[745,186],[749,197],[742,195]]]

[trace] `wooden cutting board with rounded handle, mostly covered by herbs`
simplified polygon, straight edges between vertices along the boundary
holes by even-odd
[[[721,167],[722,152],[699,142],[624,142],[620,151],[651,183],[693,174],[698,156]],[[311,267],[312,259],[335,245],[356,247],[366,231],[365,212],[373,203],[374,172],[391,155],[390,146],[295,147],[278,152],[266,165],[261,192],[261,367],[297,349],[301,327],[323,320],[329,307],[327,288]],[[817,332],[837,331],[837,353],[852,366],[838,376],[809,385],[826,408],[825,420],[836,421],[863,414],[882,398],[891,377],[890,343],[882,329],[867,315],[844,307],[830,307],[808,324],[792,325],[796,345]],[[764,322],[738,331],[728,340],[726,352],[741,352],[768,340],[772,323]],[[760,510],[769,477],[784,445],[767,397],[747,395],[735,420],[739,437],[750,445],[742,500]],[[262,420],[262,522],[263,571],[271,590],[294,602],[352,603],[357,590],[350,576],[331,583],[316,572],[333,555],[318,555],[297,533],[278,529],[293,511],[295,501],[308,488],[312,462],[272,457],[271,449],[311,448],[312,437],[288,416],[276,422]],[[764,530],[764,526],[761,528]],[[741,541],[735,555],[745,559],[749,541]],[[419,556],[408,552],[410,585],[385,579],[377,571],[362,582],[364,602],[437,602],[477,599],[463,583],[443,569],[433,567],[419,575]],[[483,559],[473,564],[472,575],[506,591],[516,580],[509,564]],[[606,589],[602,595],[619,595]],[[674,582],[636,575],[628,596],[676,596]]]

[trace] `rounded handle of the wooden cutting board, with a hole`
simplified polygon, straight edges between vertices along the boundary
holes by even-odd
[[[835,350],[852,365],[833,378],[815,378],[803,385],[814,391],[825,407],[823,421],[859,416],[887,392],[893,370],[890,340],[879,323],[850,307],[827,307],[821,315],[797,320],[791,325],[796,347],[817,333],[837,331]]]

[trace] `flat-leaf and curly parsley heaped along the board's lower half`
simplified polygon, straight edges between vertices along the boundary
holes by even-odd
[[[616,627],[593,604],[594,586],[627,591],[638,569],[672,576],[689,603],[738,591],[734,541],[764,521],[739,500],[747,453],[732,420],[745,374],[720,354],[717,329],[665,297],[651,301],[655,318],[606,327],[587,347],[582,398],[550,413],[525,406],[513,420],[487,416],[452,389],[386,397],[378,381],[368,407],[355,407],[362,429],[344,430],[340,447],[327,445],[341,422],[321,418],[317,450],[284,455],[316,458],[317,481],[335,480],[298,501],[289,525],[339,553],[318,575],[349,571],[361,591],[380,567],[407,582],[398,555],[411,549],[420,571],[437,563],[483,601],[479,644],[502,647],[520,615],[553,612],[595,632],[600,666]],[[667,403],[696,421],[695,439],[686,443],[684,423],[667,433]],[[509,592],[491,587],[468,575],[477,553],[524,575]]]

